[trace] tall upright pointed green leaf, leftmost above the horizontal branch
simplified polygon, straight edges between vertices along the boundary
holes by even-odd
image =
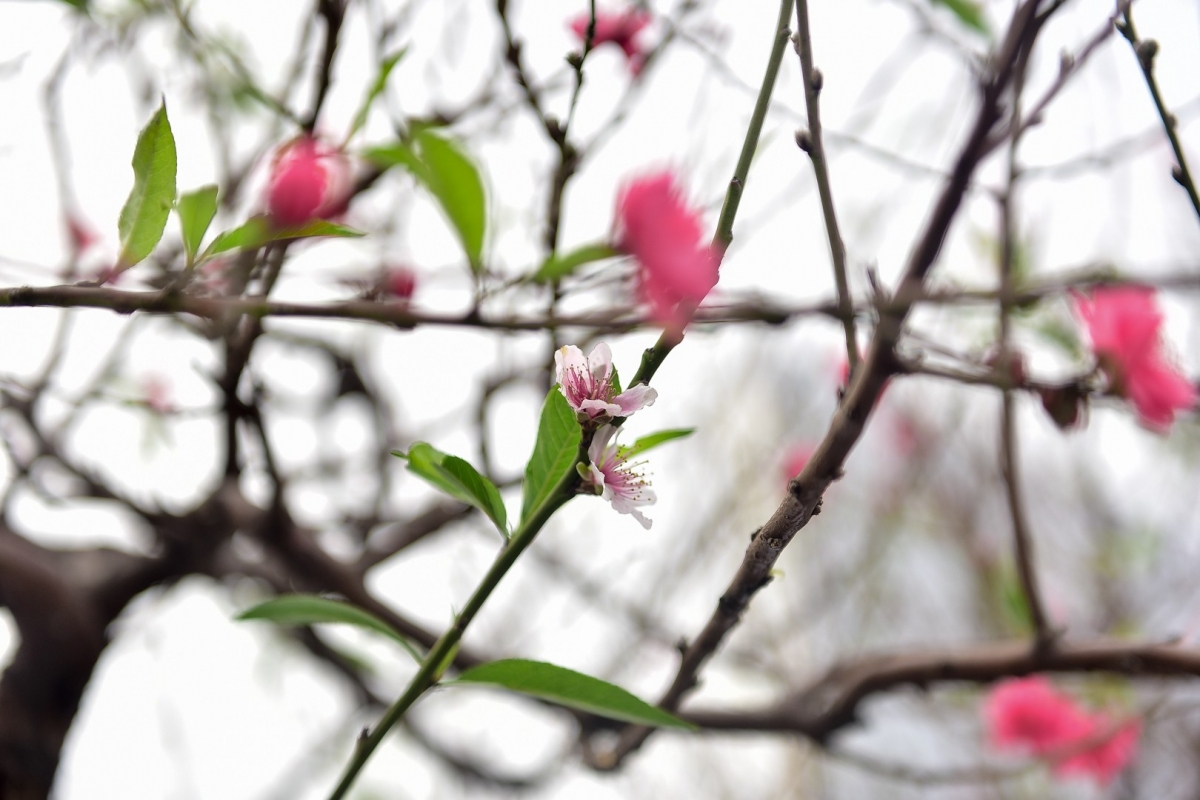
[[[118,231],[121,254],[118,265],[128,269],[154,251],[175,204],[175,137],[167,120],[167,106],[155,112],[133,150],[133,188],[121,209]]]

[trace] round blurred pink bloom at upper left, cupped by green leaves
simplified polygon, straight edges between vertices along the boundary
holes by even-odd
[[[276,224],[296,228],[346,211],[350,167],[340,150],[302,136],[280,148],[271,162],[266,211]]]

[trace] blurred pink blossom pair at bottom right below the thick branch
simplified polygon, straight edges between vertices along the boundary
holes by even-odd
[[[984,704],[992,744],[1044,759],[1057,777],[1109,784],[1138,752],[1141,722],[1090,712],[1042,675],[996,685]]]

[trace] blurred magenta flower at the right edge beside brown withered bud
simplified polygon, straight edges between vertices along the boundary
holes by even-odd
[[[1076,294],[1074,300],[1109,391],[1132,401],[1142,425],[1165,433],[1176,411],[1195,405],[1196,389],[1163,351],[1163,315],[1153,290],[1099,288],[1091,297]]]

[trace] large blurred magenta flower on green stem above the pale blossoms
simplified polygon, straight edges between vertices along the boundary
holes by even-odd
[[[617,199],[617,248],[638,265],[638,291],[650,313],[677,336],[716,285],[720,253],[704,241],[700,211],[688,206],[674,176],[661,172],[629,182]]]

